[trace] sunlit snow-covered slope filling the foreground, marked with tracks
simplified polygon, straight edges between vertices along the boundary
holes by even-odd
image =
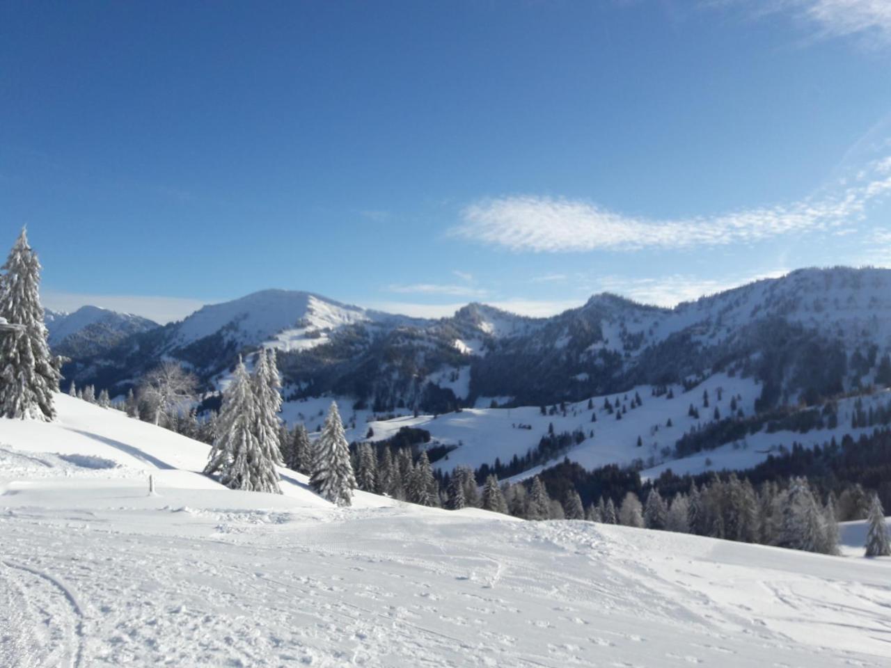
[[[891,661],[887,559],[361,493],[336,509],[285,469],[282,496],[235,493],[195,472],[202,444],[58,408],[0,420],[3,666]]]

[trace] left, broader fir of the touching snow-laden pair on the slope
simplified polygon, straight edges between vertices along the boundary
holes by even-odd
[[[257,396],[252,386],[248,370],[239,359],[232,383],[223,394],[218,436],[204,473],[218,473],[220,482],[232,489],[282,493],[275,461],[257,440]]]

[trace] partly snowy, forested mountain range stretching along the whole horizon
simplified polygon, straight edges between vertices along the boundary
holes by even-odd
[[[419,319],[265,290],[164,326],[84,307],[48,311],[47,327],[72,360],[65,376],[112,395],[168,358],[212,387],[239,354],[272,346],[288,398],[350,396],[376,411],[550,404],[717,371],[760,380],[766,407],[875,379],[891,349],[891,270],[804,269],[670,309],[601,294],[549,318],[470,304]]]

